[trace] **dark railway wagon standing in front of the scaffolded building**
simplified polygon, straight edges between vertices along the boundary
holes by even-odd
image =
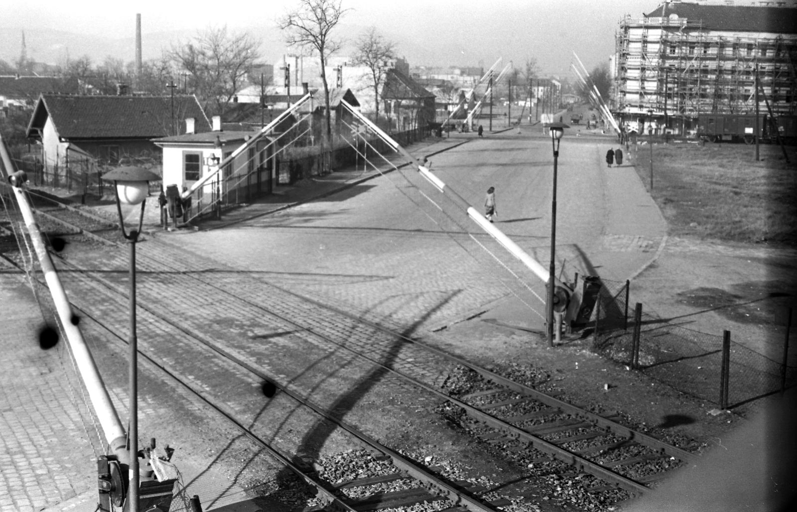
[[[697,136],[711,143],[741,142],[752,144],[756,136],[762,143],[775,143],[775,130],[783,138],[783,143],[794,145],[797,141],[797,116],[760,115],[756,134],[756,116],[742,114],[701,114],[697,118]]]

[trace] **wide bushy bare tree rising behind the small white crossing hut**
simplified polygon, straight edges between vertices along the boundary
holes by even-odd
[[[173,46],[170,55],[180,69],[190,73],[202,106],[221,113],[245,85],[249,69],[260,58],[260,44],[248,32],[228,33],[225,25],[209,27],[192,41]]]

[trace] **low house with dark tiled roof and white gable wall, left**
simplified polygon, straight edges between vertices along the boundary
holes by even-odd
[[[173,113],[173,114],[172,114]],[[69,151],[91,154],[100,165],[146,156],[159,160],[151,139],[210,131],[195,96],[77,96],[42,94],[27,135],[42,145],[48,167],[65,166]]]

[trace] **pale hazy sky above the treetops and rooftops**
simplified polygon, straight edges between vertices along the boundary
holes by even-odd
[[[10,2],[10,3],[9,3]],[[261,38],[264,60],[281,60],[285,47],[277,18],[296,0],[255,2],[22,2],[6,0],[0,20],[0,58],[19,56],[21,30],[29,57],[54,61],[88,53],[132,61],[135,14],[142,16],[143,57],[156,57],[175,41],[208,26],[227,25]],[[410,65],[493,64],[498,57],[522,67],[535,58],[544,74],[570,76],[572,52],[592,68],[614,53],[614,33],[626,14],[640,17],[659,0],[343,0],[349,9],[336,37],[353,41],[367,27],[398,45]],[[55,63],[55,62],[51,62]]]

